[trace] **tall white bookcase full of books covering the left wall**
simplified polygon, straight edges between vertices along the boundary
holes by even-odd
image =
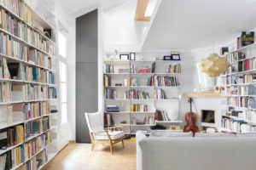
[[[59,59],[43,31],[55,29],[22,0],[0,8],[0,169],[41,169],[57,153]]]

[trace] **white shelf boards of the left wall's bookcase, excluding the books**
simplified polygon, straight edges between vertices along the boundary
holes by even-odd
[[[21,3],[21,0],[19,0]],[[15,40],[16,42],[20,42],[20,44],[22,44],[23,46],[26,46],[27,48],[30,49],[35,49],[38,52],[44,54],[44,56],[46,56],[47,58],[51,59],[51,64],[52,64],[52,68],[48,68],[45,67],[43,65],[37,65],[34,64],[32,62],[26,61],[25,59],[18,59],[15,58],[13,56],[9,56],[7,54],[0,54],[0,58],[4,58],[7,59],[9,62],[16,62],[16,63],[20,63],[21,66],[32,66],[32,67],[36,67],[41,69],[42,71],[49,71],[49,72],[55,72],[57,73],[58,68],[55,68],[55,65],[58,65],[58,58],[56,57],[56,43],[55,40],[49,39],[49,37],[46,37],[44,35],[43,32],[38,31],[38,28],[35,28],[34,26],[28,24],[26,22],[26,20],[22,19],[19,15],[15,14],[14,12],[12,12],[9,8],[3,6],[3,2],[5,2],[4,0],[2,2],[0,2],[0,8],[2,8],[7,14],[9,14],[10,16],[12,16],[15,20],[18,20],[18,22],[24,24],[25,26],[27,26],[29,29],[31,29],[32,31],[37,32],[40,37],[42,37],[42,39],[44,41],[47,41],[47,43],[51,44],[53,47],[53,53],[49,54],[47,51],[44,51],[43,48],[39,48],[37,47],[37,45],[34,45],[30,42],[26,42],[26,40],[15,36],[15,34],[10,33],[9,31],[4,30],[3,28],[0,28],[0,32],[3,32],[5,35],[8,35],[12,40]],[[13,1],[12,3],[15,3],[15,1]],[[36,21],[37,24],[39,24],[40,26],[42,26],[43,28],[48,28],[48,29],[52,29],[54,30],[54,28],[52,26],[49,25],[49,23],[47,23],[42,17],[40,17],[40,15],[36,14],[32,8],[30,8],[29,6],[26,6],[26,10],[30,11],[33,21]],[[20,9],[21,10],[21,9]],[[3,17],[3,16],[2,16]],[[3,22],[3,20],[2,20]],[[1,23],[1,26],[3,23]],[[34,41],[35,42],[35,41]],[[54,65],[55,64],[55,65]],[[53,69],[55,68],[55,69]],[[2,68],[1,68],[2,69]],[[40,85],[42,87],[57,87],[58,85],[58,77],[55,75],[55,83],[44,83],[44,82],[29,82],[29,81],[25,81],[25,80],[19,80],[19,79],[9,79],[9,78],[0,78],[0,82],[9,82],[11,84],[11,86],[13,86],[14,84],[31,84],[31,85]],[[10,101],[9,102],[0,102],[0,106],[4,106],[4,105],[15,105],[15,104],[28,104],[28,103],[39,103],[39,102],[48,102],[48,106],[50,107],[51,105],[55,105],[56,108],[58,109],[58,96],[56,98],[51,98],[49,95],[49,91],[46,92],[48,95],[47,99],[41,99],[41,97],[39,97],[38,99],[32,99],[32,100],[20,100],[20,101],[12,101],[11,97],[10,97]],[[58,94],[58,93],[57,93]],[[17,147],[19,147],[20,145],[24,145],[28,142],[31,142],[33,139],[38,138],[39,136],[45,134],[45,133],[50,133],[50,139],[49,141],[51,141],[49,144],[46,144],[43,148],[41,148],[40,150],[38,150],[37,153],[35,153],[34,155],[30,156],[28,159],[25,159],[25,161],[21,162],[19,165],[12,167],[12,170],[15,169],[20,169],[26,165],[27,161],[31,161],[32,159],[34,159],[35,157],[37,157],[38,155],[40,155],[41,153],[43,153],[44,151],[47,150],[48,156],[45,157],[45,161],[42,162],[42,165],[40,167],[38,167],[37,169],[41,169],[42,167],[44,167],[44,165],[49,162],[55,155],[56,152],[53,150],[51,152],[51,150],[49,150],[50,147],[52,147],[52,145],[54,145],[57,141],[56,139],[56,133],[57,133],[57,124],[55,124],[55,122],[52,122],[54,119],[56,119],[56,114],[58,114],[58,112],[51,112],[50,108],[48,108],[49,110],[46,111],[46,114],[44,114],[44,112],[42,111],[42,115],[40,116],[35,116],[32,118],[29,118],[26,120],[25,116],[23,117],[23,120],[20,121],[14,121],[11,123],[1,123],[0,124],[0,132],[3,132],[3,130],[8,129],[9,127],[15,127],[15,126],[19,126],[19,125],[23,125],[24,128],[24,139],[22,142],[20,142],[19,144],[15,144],[13,146],[9,146],[7,147],[7,149],[5,150],[0,150],[0,155],[6,154],[7,152],[9,152],[10,150],[15,150]],[[23,112],[23,114],[25,114]],[[14,115],[15,116],[15,115]],[[35,122],[35,121],[39,121],[42,120],[43,118],[48,117],[48,129],[44,130],[42,129],[42,132],[40,133],[34,133],[33,135],[29,136],[28,138],[26,138],[26,133],[25,133],[25,127],[27,123],[31,123],[31,122]],[[13,117],[15,118],[15,117]],[[57,122],[57,121],[56,121]]]

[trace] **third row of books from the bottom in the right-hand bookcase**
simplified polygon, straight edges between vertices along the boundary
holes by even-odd
[[[228,105],[233,107],[246,107],[249,109],[256,109],[256,99],[247,97],[229,98]]]

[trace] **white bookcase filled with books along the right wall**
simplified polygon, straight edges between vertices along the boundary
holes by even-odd
[[[224,57],[231,66],[221,76],[223,94],[229,97],[226,114],[222,116],[222,130],[256,133],[256,43]]]

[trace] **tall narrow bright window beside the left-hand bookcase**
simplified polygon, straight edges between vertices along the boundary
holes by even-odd
[[[61,123],[67,122],[67,38],[58,33],[61,85]]]

